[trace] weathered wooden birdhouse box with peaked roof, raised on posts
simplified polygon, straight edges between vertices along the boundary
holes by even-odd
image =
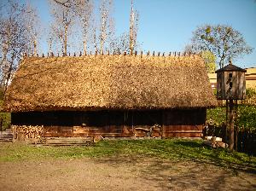
[[[217,73],[217,99],[243,100],[246,96],[245,69],[236,67],[230,61],[226,67],[220,68]]]

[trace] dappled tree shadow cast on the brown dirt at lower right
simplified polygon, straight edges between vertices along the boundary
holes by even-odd
[[[115,166],[128,166],[131,173],[150,182],[158,182],[158,190],[229,190],[232,171],[214,168],[212,164],[198,161],[170,161],[136,155],[119,155],[111,158],[96,159],[96,163]],[[241,180],[244,181],[244,180]],[[234,182],[235,184],[237,182]],[[153,184],[154,185],[154,184]],[[255,190],[255,184],[243,182],[237,190]]]

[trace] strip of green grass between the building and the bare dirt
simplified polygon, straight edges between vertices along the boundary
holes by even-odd
[[[102,141],[93,147],[35,147],[21,143],[1,143],[0,162],[38,159],[80,159],[102,157],[156,158],[173,162],[192,160],[256,172],[256,158],[224,148],[208,148],[201,141],[183,139]]]

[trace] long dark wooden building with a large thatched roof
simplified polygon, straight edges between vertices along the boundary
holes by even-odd
[[[197,55],[25,58],[4,100],[40,136],[201,136],[216,105]]]

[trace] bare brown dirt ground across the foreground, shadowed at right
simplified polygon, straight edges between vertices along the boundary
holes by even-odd
[[[256,175],[157,159],[0,163],[0,190],[256,190]]]

